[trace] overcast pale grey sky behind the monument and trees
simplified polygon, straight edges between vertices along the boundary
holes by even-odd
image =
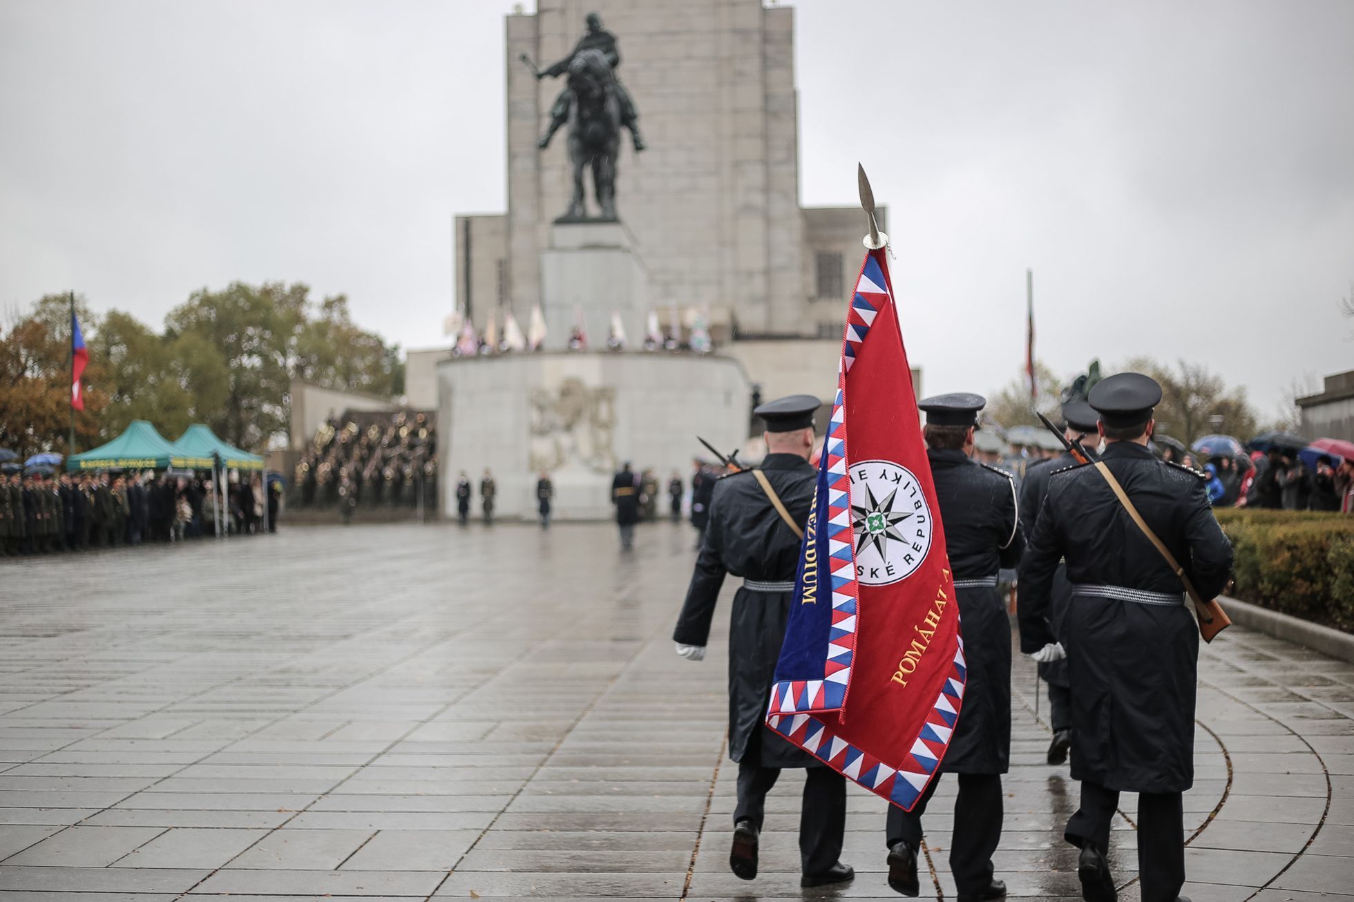
[[[1017,374],[1026,267],[1064,374],[1205,362],[1273,416],[1354,367],[1354,3],[795,5],[800,200],[865,163],[925,390]],[[0,0],[0,305],[158,328],[302,280],[440,343],[451,215],[505,206],[510,7]]]

